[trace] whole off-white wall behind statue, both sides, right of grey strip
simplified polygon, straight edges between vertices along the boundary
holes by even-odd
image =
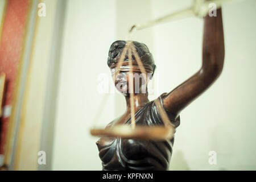
[[[124,108],[115,105],[121,96],[110,94],[105,110],[97,110],[100,101],[106,98],[97,92],[97,76],[109,73],[106,65],[108,49],[114,40],[123,36],[124,25],[117,17],[122,12],[117,9],[122,6],[121,2],[68,1],[52,169],[101,169],[95,145],[97,139],[90,137],[89,127],[95,114],[105,125]],[[158,18],[185,8],[192,1],[146,2],[146,5],[137,4],[145,19],[145,14]],[[144,10],[144,6],[147,9],[151,6],[151,11]],[[256,87],[253,80],[256,76],[256,13],[253,7],[253,0],[223,7],[224,70],[213,86],[181,113],[170,169],[256,169]],[[129,14],[125,10],[123,13]],[[146,44],[148,41],[157,65],[159,93],[156,95],[170,92],[200,68],[202,19],[187,18],[161,24],[146,35],[152,37],[148,40],[139,38]],[[215,166],[208,164],[208,152],[212,150],[217,152]]]

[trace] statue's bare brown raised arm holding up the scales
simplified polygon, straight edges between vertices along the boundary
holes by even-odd
[[[203,64],[200,70],[163,99],[164,107],[175,117],[213,84],[222,71],[225,51],[221,9],[216,13],[217,16],[204,17]]]

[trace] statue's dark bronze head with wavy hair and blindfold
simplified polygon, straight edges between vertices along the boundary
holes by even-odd
[[[138,53],[142,65],[138,64],[134,51],[131,53],[131,60],[129,60],[129,51],[127,51],[125,53],[122,65],[118,69],[118,61],[126,44],[126,41],[117,40],[110,46],[109,49],[108,66],[112,71],[112,78],[115,87],[123,94],[131,93],[132,91],[129,83],[131,82],[131,78],[133,78],[133,93],[147,93],[147,82],[154,75],[156,68],[154,59],[145,44],[133,42],[134,48],[136,49],[135,51]],[[142,73],[142,67],[146,71],[147,75]],[[132,71],[133,74],[129,74],[130,71]]]

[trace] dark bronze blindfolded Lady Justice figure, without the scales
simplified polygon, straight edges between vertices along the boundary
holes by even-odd
[[[108,127],[116,125],[131,125],[131,94],[129,89],[129,71],[141,73],[141,69],[135,61],[135,56],[127,53],[119,68],[118,76],[115,76],[118,60],[127,42],[118,40],[112,44],[109,50],[108,66],[113,71],[113,80],[116,88],[123,93],[126,99],[127,110],[121,117],[110,122]],[[154,74],[155,64],[150,51],[143,43],[133,42],[136,51],[147,73]],[[221,9],[217,10],[217,16],[204,17],[203,36],[203,64],[199,71],[188,80],[177,86],[169,93],[163,93],[154,101],[149,101],[146,93],[142,93],[142,85],[139,83],[139,93],[134,93],[135,123],[140,126],[163,125],[159,115],[156,101],[160,103],[168,115],[168,119],[174,128],[180,124],[180,111],[195,100],[220,76],[224,64],[224,35],[222,28]],[[121,76],[120,76],[121,75]],[[168,82],[168,81],[166,81]],[[134,83],[134,82],[133,82]],[[172,155],[174,138],[165,140],[144,140],[129,138],[102,137],[96,142],[99,155],[102,160],[103,170],[168,170]]]

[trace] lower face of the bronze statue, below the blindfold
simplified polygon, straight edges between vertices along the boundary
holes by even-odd
[[[112,74],[115,88],[123,94],[127,93],[146,93],[148,75],[141,72],[129,73],[129,71],[119,71]],[[133,82],[133,85],[131,85]]]

